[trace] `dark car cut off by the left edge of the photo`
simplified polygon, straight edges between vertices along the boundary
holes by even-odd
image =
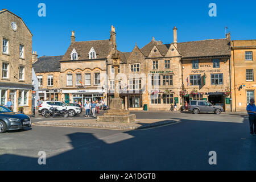
[[[31,127],[31,121],[27,115],[14,113],[10,109],[0,106],[0,133],[27,127]]]

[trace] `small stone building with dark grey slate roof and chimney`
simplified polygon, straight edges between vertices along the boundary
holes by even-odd
[[[61,101],[60,60],[63,56],[42,56],[33,53],[33,68],[38,77],[39,99]]]

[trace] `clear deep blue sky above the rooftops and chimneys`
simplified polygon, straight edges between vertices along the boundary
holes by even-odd
[[[38,4],[46,4],[46,17],[38,16]],[[209,3],[216,3],[217,17],[210,17]],[[233,40],[256,39],[256,1],[1,1],[23,18],[33,36],[33,50],[39,56],[64,55],[71,31],[76,41],[104,40],[113,24],[120,51],[130,52],[137,42],[142,48],[152,36],[163,43],[225,38],[228,27]]]

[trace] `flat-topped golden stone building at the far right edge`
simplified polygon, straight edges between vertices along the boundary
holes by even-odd
[[[231,55],[233,108],[246,111],[256,92],[256,40],[232,40]]]

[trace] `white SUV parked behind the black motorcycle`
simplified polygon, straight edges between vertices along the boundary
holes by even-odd
[[[57,110],[67,109],[68,115],[70,117],[81,113],[80,107],[72,106],[60,101],[43,101],[42,104],[39,105],[38,111],[42,114],[42,116],[44,116],[44,114],[46,114],[46,111],[48,111],[51,107],[56,107]]]

